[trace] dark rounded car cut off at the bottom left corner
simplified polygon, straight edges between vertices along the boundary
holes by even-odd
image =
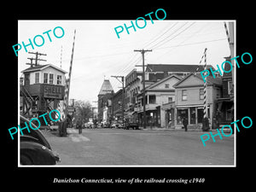
[[[29,122],[29,119],[20,115],[20,127],[31,125],[35,129],[36,125]],[[20,134],[20,164],[21,165],[55,165],[61,159],[58,154],[54,154],[48,141],[40,130],[30,132],[23,131]]]

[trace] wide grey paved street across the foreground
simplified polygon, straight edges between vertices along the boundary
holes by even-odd
[[[233,165],[234,137],[215,137],[204,147],[201,131],[68,129],[68,137],[44,131],[59,165],[84,166],[211,166]]]

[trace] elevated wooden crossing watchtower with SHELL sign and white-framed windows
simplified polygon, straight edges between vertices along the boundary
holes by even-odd
[[[20,113],[28,118],[38,117],[58,108],[65,95],[66,71],[47,64],[28,67],[22,73],[24,82],[20,82]]]

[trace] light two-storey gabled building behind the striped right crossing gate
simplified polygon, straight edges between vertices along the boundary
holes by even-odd
[[[174,85],[175,87],[175,108],[174,126],[181,128],[183,119],[189,121],[188,128],[201,129],[204,116],[204,82],[201,75],[190,73],[184,79]],[[218,98],[222,96],[222,81],[220,78],[207,77],[207,113],[210,127],[213,126],[213,117],[217,112]]]

